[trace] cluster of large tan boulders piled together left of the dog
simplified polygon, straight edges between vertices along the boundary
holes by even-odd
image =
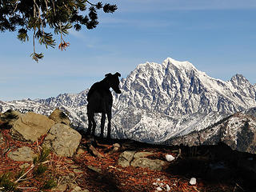
[[[14,110],[7,110],[0,116],[0,120],[10,128],[10,134],[16,140],[35,142],[38,138],[46,135],[43,146],[53,150],[59,156],[73,156],[78,149],[82,138],[81,134],[70,128],[70,119],[61,110],[54,110],[50,118],[33,112],[21,114]],[[10,154],[10,158],[19,156],[17,154],[19,152],[18,150]]]

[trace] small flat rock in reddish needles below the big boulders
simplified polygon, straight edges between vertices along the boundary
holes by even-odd
[[[14,161],[19,162],[31,162],[34,158],[34,152],[31,150],[28,146],[22,146],[18,148],[18,150],[11,151],[8,154],[8,157],[10,159],[13,159]]]

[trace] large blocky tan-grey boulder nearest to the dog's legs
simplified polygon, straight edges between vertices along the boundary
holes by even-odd
[[[50,128],[42,145],[59,156],[72,157],[78,149],[81,138],[78,131],[63,123],[57,123]]]

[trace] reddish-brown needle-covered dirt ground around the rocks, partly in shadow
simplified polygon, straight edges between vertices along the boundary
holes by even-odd
[[[30,146],[34,153],[42,150],[43,138],[38,142],[18,142],[10,136],[9,130],[0,130],[0,175],[11,173],[10,180],[16,181],[17,174],[21,172],[20,166],[27,164],[23,173],[30,170],[33,162],[15,162],[8,158],[10,151],[20,146]],[[255,180],[250,173],[238,169],[233,162],[218,159],[218,162],[225,163],[226,172],[221,170],[216,173],[209,172],[210,166],[214,165],[210,159],[211,153],[206,147],[194,154],[190,148],[178,146],[154,146],[145,143],[133,142],[129,140],[113,140],[106,142],[97,140],[94,147],[102,157],[95,157],[86,148],[86,143],[90,142],[82,138],[78,154],[72,158],[58,157],[51,153],[45,163],[47,170],[43,174],[37,175],[34,170],[30,170],[26,177],[17,183],[19,191],[39,191],[49,179],[54,179],[58,186],[63,185],[66,192],[74,190],[79,186],[82,190],[90,192],[138,192],[138,191],[255,191]],[[113,144],[118,142],[120,149],[113,151]],[[182,155],[179,149],[182,148]],[[136,150],[152,152],[150,158],[165,160],[166,154],[172,154],[176,159],[168,162],[161,171],[149,170],[138,167],[122,167],[118,165],[118,157],[124,150]],[[178,157],[178,158],[177,158]],[[217,163],[217,162],[216,162]],[[233,164],[232,164],[233,163]],[[194,186],[190,185],[190,178],[197,178]],[[66,188],[65,188],[66,187]],[[161,190],[160,190],[161,188]],[[81,190],[81,191],[82,191]],[[51,191],[51,190],[45,190]],[[57,190],[58,191],[58,190]],[[60,191],[60,190],[59,190]]]

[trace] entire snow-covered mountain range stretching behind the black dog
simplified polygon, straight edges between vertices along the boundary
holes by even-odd
[[[162,64],[138,65],[122,78],[120,86],[122,94],[113,93],[115,138],[163,142],[256,106],[256,85],[241,74],[225,82],[210,78],[190,62],[172,58],[166,58]],[[59,107],[70,116],[74,126],[87,127],[87,93],[88,89],[55,98],[0,102],[0,112],[12,108],[50,114]]]

